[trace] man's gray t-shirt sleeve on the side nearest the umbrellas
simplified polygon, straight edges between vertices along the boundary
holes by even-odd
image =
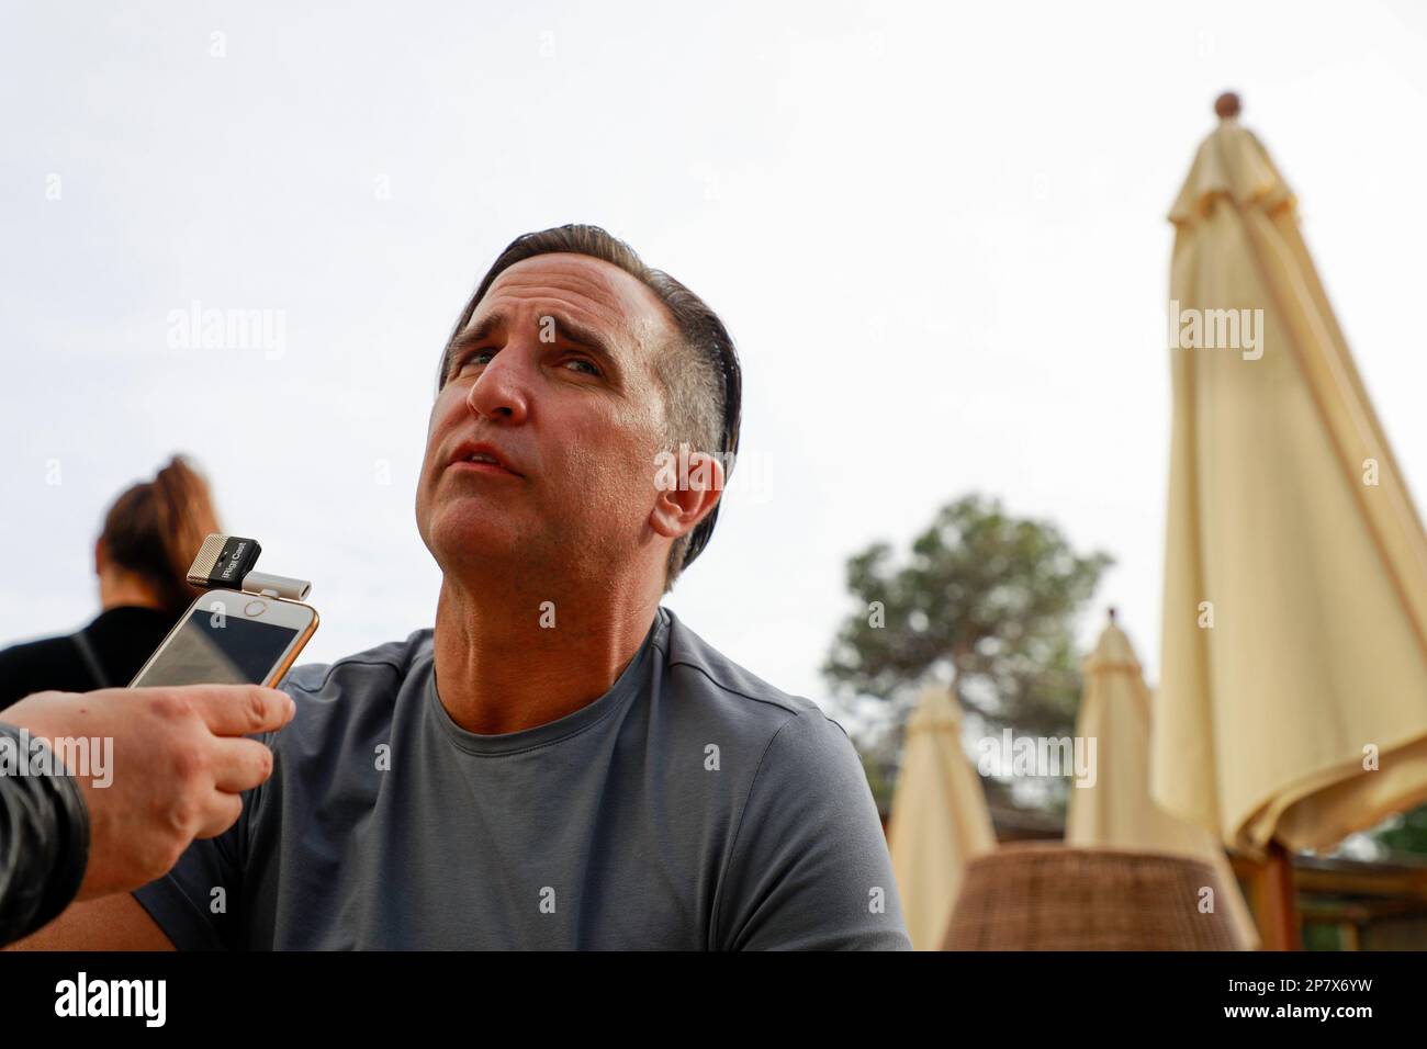
[[[789,718],[753,775],[715,911],[723,951],[910,951],[858,752],[821,711]]]

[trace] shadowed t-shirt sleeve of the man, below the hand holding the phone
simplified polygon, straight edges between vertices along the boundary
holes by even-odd
[[[274,732],[257,736],[268,746]],[[243,792],[243,815],[217,838],[195,839],[163,878],[133,896],[178,951],[240,951],[243,868],[253,811],[263,784]],[[221,892],[220,892],[221,889]]]

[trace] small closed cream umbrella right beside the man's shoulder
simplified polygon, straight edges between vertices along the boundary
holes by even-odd
[[[996,848],[960,708],[943,686],[923,689],[908,721],[888,848],[912,946],[939,951],[966,861]]]

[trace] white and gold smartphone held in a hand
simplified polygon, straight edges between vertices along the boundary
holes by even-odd
[[[188,607],[128,686],[271,688],[287,674],[317,624],[317,609],[300,601],[210,589]]]

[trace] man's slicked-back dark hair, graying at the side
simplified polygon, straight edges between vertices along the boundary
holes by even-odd
[[[702,298],[662,270],[645,265],[634,248],[598,225],[558,225],[512,240],[481,278],[475,294],[461,311],[447,347],[465,331],[497,277],[527,258],[557,253],[588,255],[618,265],[664,303],[678,331],[676,344],[665,345],[655,354],[655,373],[664,385],[665,414],[669,420],[666,440],[671,451],[676,454],[679,444],[686,442],[696,451],[718,455],[726,474],[732,474],[743,412],[743,373],[732,337]],[[448,354],[442,354],[437,392],[445,385],[447,363]],[[715,502],[708,517],[669,548],[665,592],[674,587],[679,572],[704,552],[714,534],[718,511],[719,504]]]

